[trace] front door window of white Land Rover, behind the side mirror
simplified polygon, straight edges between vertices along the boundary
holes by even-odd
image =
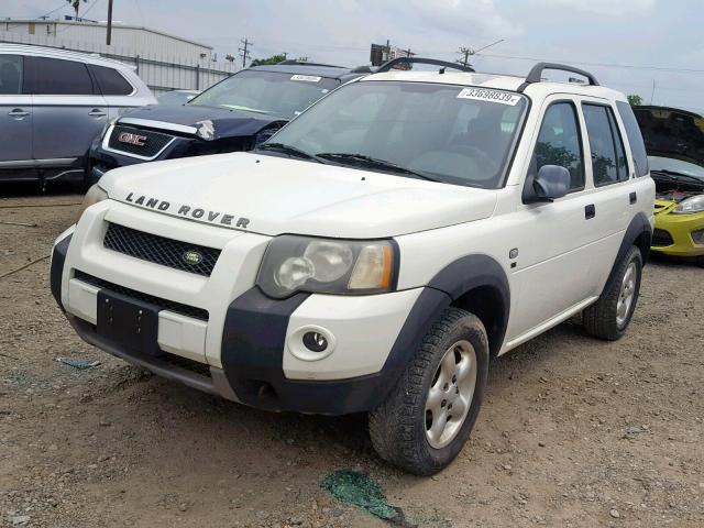
[[[536,143],[536,170],[543,165],[559,165],[570,172],[570,190],[584,188],[584,154],[576,109],[571,102],[556,102],[548,108]]]

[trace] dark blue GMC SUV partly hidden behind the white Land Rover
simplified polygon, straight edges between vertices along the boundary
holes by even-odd
[[[135,163],[249,151],[338,86],[362,75],[285,61],[243,69],[186,105],[144,107],[112,122],[90,151],[90,179]]]

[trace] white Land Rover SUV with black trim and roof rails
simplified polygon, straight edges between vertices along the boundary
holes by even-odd
[[[111,170],[53,252],[80,337],[245,405],[369,413],[382,458],[431,474],[492,358],[580,312],[623,336],[654,200],[626,98],[410,62],[438,67],[392,62],[257,151]]]

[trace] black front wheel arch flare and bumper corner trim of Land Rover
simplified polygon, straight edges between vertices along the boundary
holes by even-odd
[[[492,346],[495,353],[501,349],[508,322],[508,279],[492,257],[468,255],[447,265],[422,288],[378,373],[336,381],[286,378],[283,354],[288,320],[309,294],[278,300],[266,297],[257,287],[234,299],[228,308],[222,366],[238,398],[253,407],[324,415],[369,411],[386,399],[442,311],[480,287],[491,288],[495,298],[501,299],[501,309],[493,319],[495,328],[487,328],[497,339]]]

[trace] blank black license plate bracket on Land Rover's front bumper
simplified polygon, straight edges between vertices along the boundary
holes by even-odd
[[[97,308],[98,336],[133,352],[161,353],[157,343],[158,306],[101,289]]]

